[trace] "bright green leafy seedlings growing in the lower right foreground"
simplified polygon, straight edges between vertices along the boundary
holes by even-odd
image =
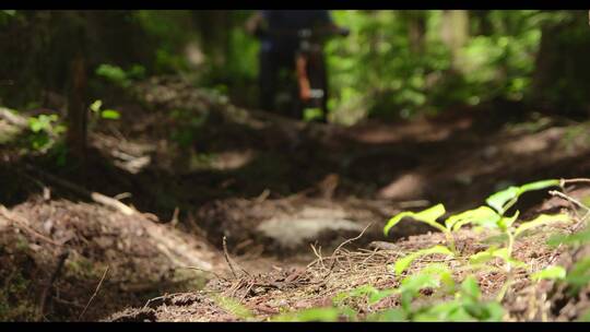
[[[453,234],[465,225],[472,224],[477,227],[498,232],[503,239],[502,245],[493,245],[484,251],[471,254],[465,260],[465,265],[455,268],[455,270],[505,272],[507,275],[506,282],[498,292],[495,300],[483,300],[477,281],[473,274],[468,274],[460,286],[457,286],[453,280],[453,272],[442,261],[429,263],[420,271],[406,275],[401,280],[397,288],[377,289],[370,284],[363,285],[337,294],[332,298],[332,307],[310,308],[288,312],[273,320],[338,321],[342,318],[356,320],[357,313],[345,305],[346,300],[364,298],[369,309],[365,320],[370,321],[500,321],[505,316],[505,310],[500,303],[512,284],[514,270],[529,269],[526,263],[512,257],[515,242],[538,227],[573,221],[569,215],[558,213],[554,215],[541,214],[533,220],[518,222],[520,216],[519,211],[516,211],[511,215],[506,215],[506,212],[518,202],[518,199],[524,192],[546,189],[548,187],[559,186],[559,180],[543,180],[526,183],[520,187],[509,187],[489,195],[486,199],[487,205],[450,215],[445,220],[444,224],[439,224],[437,220],[446,213],[445,206],[442,204],[436,204],[420,212],[401,212],[390,218],[385,226],[384,232],[387,235],[404,217],[411,217],[414,221],[426,223],[439,229],[447,238],[448,247],[437,245],[421,249],[389,265],[388,268],[397,277],[402,276],[414,261],[423,257],[439,254],[446,256],[449,259],[456,258],[459,252],[456,249]],[[579,246],[580,244],[590,241],[590,230],[587,229],[567,237],[553,237],[552,241],[554,244],[563,242]],[[504,262],[503,266],[498,268],[488,264],[496,259],[500,259]],[[564,281],[569,283],[575,289],[580,289],[580,287],[590,282],[590,259],[583,259],[576,263],[569,273],[566,273],[563,266],[550,265],[531,273],[530,277],[534,282],[542,280]],[[440,298],[448,298],[448,296],[452,296],[453,298],[434,305],[413,306],[414,300],[426,289],[430,289],[430,292],[426,293],[430,297],[439,296]],[[394,295],[398,295],[400,298],[399,308],[370,312],[371,306],[386,297]]]

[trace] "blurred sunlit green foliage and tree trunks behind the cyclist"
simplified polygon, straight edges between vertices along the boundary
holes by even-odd
[[[0,11],[0,104],[48,106],[83,49],[92,94],[179,74],[257,106],[252,11]],[[332,11],[330,119],[412,118],[493,100],[559,112],[589,105],[587,11]],[[91,98],[92,99],[92,98]],[[50,105],[49,105],[50,106]]]

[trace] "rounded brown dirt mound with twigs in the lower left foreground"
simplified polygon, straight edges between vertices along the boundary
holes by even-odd
[[[0,320],[95,320],[161,292],[198,289],[210,276],[199,270],[223,271],[222,262],[205,240],[139,214],[40,198],[0,205]]]

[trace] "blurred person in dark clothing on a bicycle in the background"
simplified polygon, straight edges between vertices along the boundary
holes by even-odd
[[[309,75],[319,85],[321,93],[322,117],[327,112],[327,75],[323,52],[320,51],[312,60],[318,62],[314,66],[312,73],[306,72],[309,66],[302,64],[297,52],[300,52],[300,32],[324,31],[335,34],[347,34],[347,29],[337,26],[329,11],[260,11],[247,23],[247,28],[261,39],[259,54],[259,87],[260,107],[264,110],[275,109],[275,98],[280,90],[280,74],[287,71],[297,74],[298,104],[305,104],[312,97],[314,90],[310,86]],[[300,105],[298,105],[300,106]],[[300,108],[300,107],[297,107]],[[300,118],[300,109],[292,116]]]

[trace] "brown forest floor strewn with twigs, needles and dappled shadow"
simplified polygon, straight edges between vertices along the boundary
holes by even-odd
[[[412,221],[386,237],[396,213],[439,202],[459,212],[510,185],[590,174],[590,122],[511,105],[344,128],[240,109],[174,78],[132,95],[114,107],[119,120],[91,120],[84,174],[23,153],[24,133],[0,119],[0,320],[263,321],[326,307],[358,286],[398,286],[388,265],[445,242]],[[570,206],[546,190],[519,202],[526,220]],[[517,258],[571,264],[583,252],[545,245],[570,229],[526,237]],[[457,244],[469,256],[488,236],[465,228]],[[502,286],[498,275],[479,280],[484,298]],[[505,319],[571,320],[590,307],[564,292],[518,275]],[[399,297],[350,305],[364,317]]]

